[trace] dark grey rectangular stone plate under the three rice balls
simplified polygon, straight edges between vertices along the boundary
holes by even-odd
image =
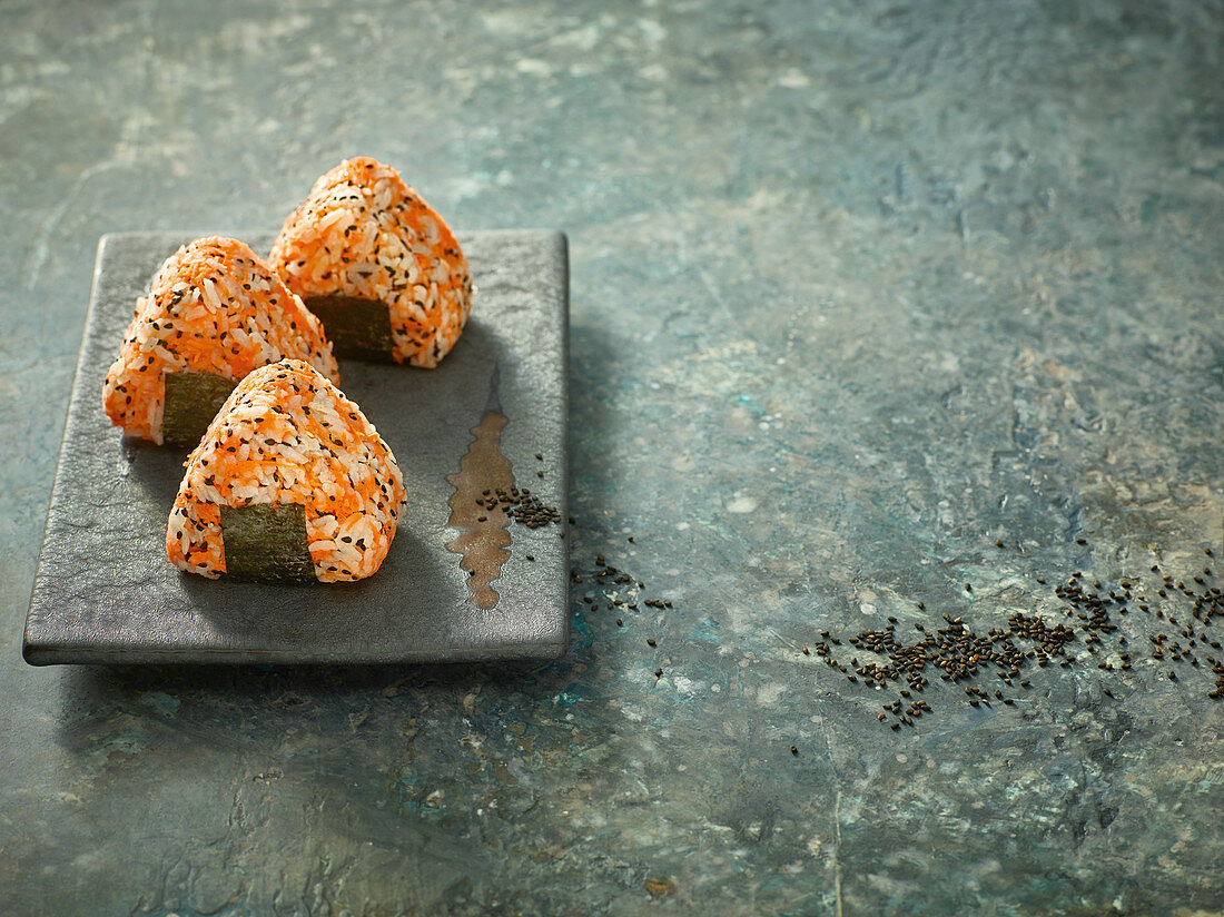
[[[488,415],[497,422],[483,427],[501,430],[494,458],[499,447],[517,486],[565,518],[565,238],[459,234],[477,293],[468,327],[441,366],[340,362],[340,388],[395,453],[408,502],[373,577],[302,585],[212,580],[173,567],[165,526],[185,453],[127,440],[103,414],[103,378],[136,298],[190,239],[122,233],[99,245],[26,622],[26,661],[361,664],[563,654],[569,617],[562,525],[507,522],[509,556],[492,580],[496,604],[487,610],[470,596],[463,556],[447,545],[464,534],[449,525],[457,488],[448,476],[459,471],[472,430]],[[264,253],[272,236],[245,241]],[[487,458],[487,437],[481,448]]]

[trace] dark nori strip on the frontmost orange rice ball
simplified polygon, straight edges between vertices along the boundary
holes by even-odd
[[[301,503],[256,503],[222,508],[225,573],[234,579],[312,582]]]

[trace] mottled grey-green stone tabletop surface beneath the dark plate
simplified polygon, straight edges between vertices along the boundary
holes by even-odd
[[[800,651],[1224,555],[1222,38],[1190,0],[0,6],[2,910],[1224,910],[1224,708],[1162,622],[897,732]],[[274,229],[354,153],[569,234],[573,556],[673,607],[618,628],[586,577],[534,670],[24,666],[98,236]]]

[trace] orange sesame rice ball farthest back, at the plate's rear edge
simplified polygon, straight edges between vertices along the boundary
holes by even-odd
[[[399,173],[368,157],[315,182],[268,263],[323,320],[339,356],[437,366],[471,311],[459,242]]]

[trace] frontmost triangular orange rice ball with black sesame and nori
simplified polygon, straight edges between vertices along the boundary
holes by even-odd
[[[361,579],[387,556],[403,501],[395,458],[361,409],[284,360],[242,380],[191,453],[166,555],[204,577]]]

